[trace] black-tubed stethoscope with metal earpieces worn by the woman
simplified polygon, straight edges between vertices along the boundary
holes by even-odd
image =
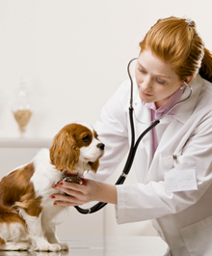
[[[126,180],[126,177],[131,169],[134,157],[136,155],[136,151],[137,148],[139,146],[139,143],[141,142],[141,140],[144,138],[144,136],[146,135],[146,133],[148,131],[150,131],[152,128],[156,127],[158,124],[160,124],[161,119],[163,119],[172,109],[173,107],[175,107],[176,105],[182,104],[185,101],[189,100],[191,95],[192,95],[192,87],[186,83],[185,81],[183,82],[189,89],[190,89],[190,94],[189,96],[185,99],[185,100],[181,100],[179,102],[176,102],[174,105],[172,105],[172,107],[167,110],[159,119],[155,120],[152,122],[152,124],[146,128],[145,131],[143,131],[143,133],[139,136],[139,138],[137,139],[137,141],[135,142],[135,128],[134,128],[134,122],[133,122],[133,79],[132,76],[130,74],[130,64],[137,60],[138,58],[134,58],[132,59],[127,66],[127,72],[129,75],[129,79],[130,79],[130,83],[131,83],[131,93],[130,93],[130,106],[129,106],[129,120],[130,120],[130,128],[131,128],[131,145],[130,145],[130,150],[126,159],[126,163],[123,167],[123,171],[121,173],[121,175],[119,176],[119,179],[116,183],[116,185],[122,185],[124,183],[124,181]],[[88,214],[88,213],[95,213],[97,211],[99,211],[100,209],[102,209],[104,206],[106,206],[107,203],[103,203],[103,202],[98,202],[97,204],[95,204],[92,208],[90,209],[82,209],[78,206],[75,206],[76,210],[79,213],[83,213],[83,214]]]

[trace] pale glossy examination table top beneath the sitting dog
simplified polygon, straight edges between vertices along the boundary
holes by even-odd
[[[159,237],[106,237],[66,240],[61,252],[0,251],[0,256],[163,256],[167,244]]]

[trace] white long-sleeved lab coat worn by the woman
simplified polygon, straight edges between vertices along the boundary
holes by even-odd
[[[151,133],[137,150],[134,166],[138,184],[117,185],[118,223],[152,219],[159,235],[169,244],[172,256],[212,255],[212,84],[199,74],[191,83],[193,94],[174,116],[157,127],[163,132],[152,159]],[[185,90],[182,98],[188,94]],[[103,107],[94,128],[106,145],[95,179],[106,180],[116,170],[130,145],[128,117],[130,82],[123,82]],[[134,111],[137,119],[150,122],[150,111],[139,98],[134,80]],[[146,125],[135,123],[136,138]],[[164,130],[165,129],[165,130]],[[164,173],[174,166],[195,168],[198,190],[167,192]]]

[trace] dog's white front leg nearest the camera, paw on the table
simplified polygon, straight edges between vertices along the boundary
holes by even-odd
[[[26,221],[29,236],[32,242],[31,249],[40,251],[60,251],[61,246],[59,244],[51,244],[46,241],[42,232],[41,226],[41,213],[39,216],[32,216],[27,214],[24,210],[20,209],[19,213]]]

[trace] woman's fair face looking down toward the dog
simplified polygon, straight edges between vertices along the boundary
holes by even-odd
[[[157,108],[164,105],[182,86],[171,65],[152,55],[148,49],[138,58],[135,76],[140,98],[145,102],[155,102]]]

